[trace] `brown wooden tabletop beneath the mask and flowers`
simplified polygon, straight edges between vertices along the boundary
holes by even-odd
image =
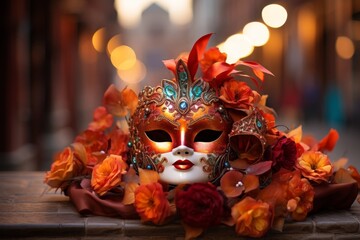
[[[183,239],[178,223],[143,225],[138,220],[82,217],[68,197],[43,183],[43,172],[0,172],[0,238],[2,239]],[[242,239],[234,228],[209,229],[201,239]],[[266,239],[360,239],[360,205],[347,211],[309,216],[287,222],[282,233]]]

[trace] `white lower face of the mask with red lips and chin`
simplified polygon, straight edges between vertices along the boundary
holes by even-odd
[[[159,173],[160,180],[169,184],[185,184],[209,181],[209,174],[204,172],[207,159],[206,153],[194,152],[192,148],[179,146],[171,152],[163,153],[164,171]]]

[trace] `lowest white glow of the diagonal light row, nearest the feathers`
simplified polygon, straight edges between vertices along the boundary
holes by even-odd
[[[227,63],[235,63],[240,58],[249,56],[254,51],[254,46],[243,34],[234,34],[226,39],[224,44],[219,45],[221,52],[227,54]]]

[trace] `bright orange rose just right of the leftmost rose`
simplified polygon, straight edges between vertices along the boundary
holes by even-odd
[[[91,186],[102,196],[121,183],[121,175],[126,173],[128,165],[121,156],[110,155],[96,165],[92,172]]]

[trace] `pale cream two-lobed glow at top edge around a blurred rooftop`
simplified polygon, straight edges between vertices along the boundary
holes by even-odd
[[[187,24],[192,20],[192,0],[115,0],[120,24],[126,28],[135,27],[143,11],[152,4],[167,11],[174,24]]]

